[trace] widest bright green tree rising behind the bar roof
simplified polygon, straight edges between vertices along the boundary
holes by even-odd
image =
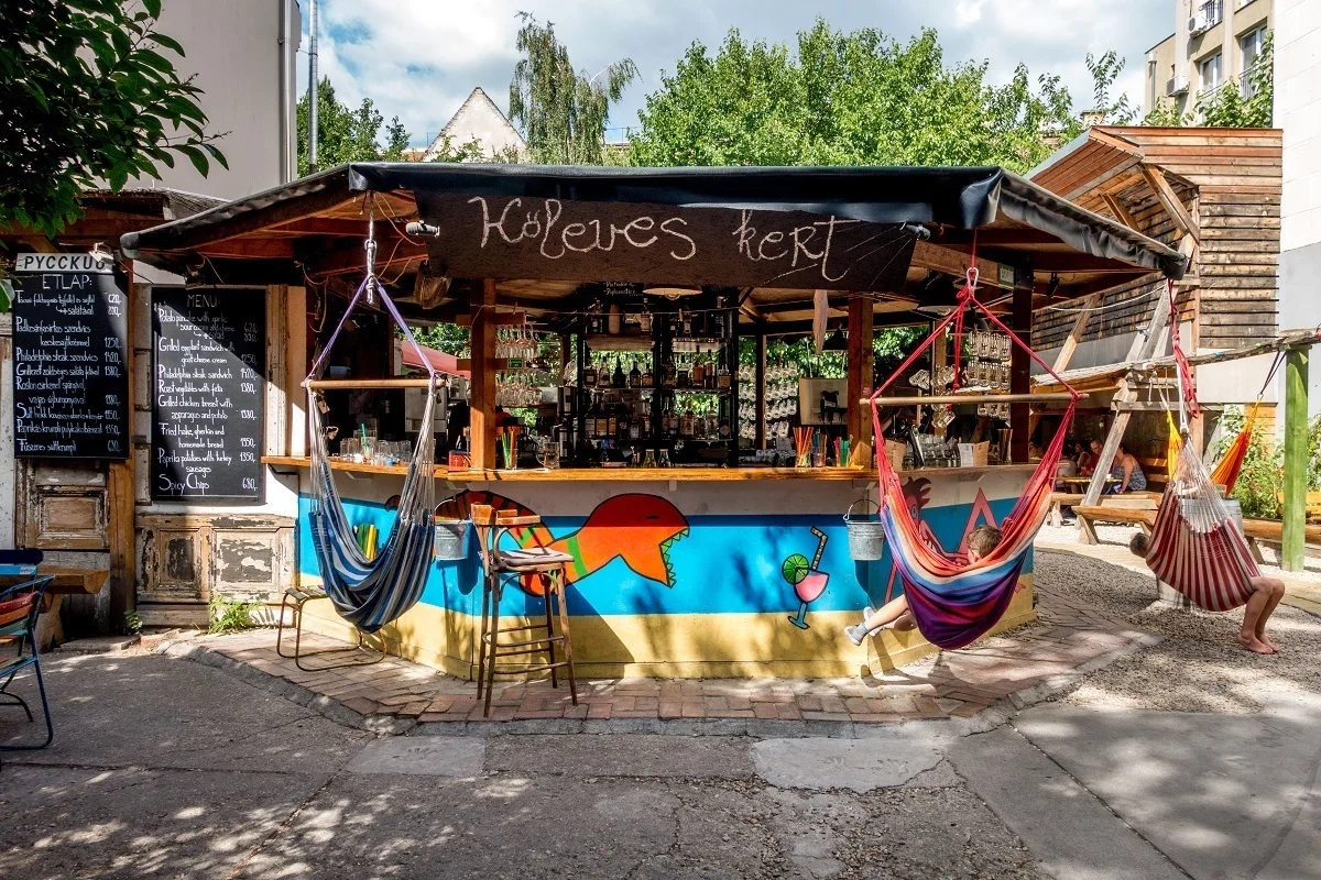
[[[647,96],[635,165],[1004,165],[1025,170],[1081,131],[1058,77],[945,63],[934,30],[906,44],[818,20],[797,51],[731,30],[694,42]]]

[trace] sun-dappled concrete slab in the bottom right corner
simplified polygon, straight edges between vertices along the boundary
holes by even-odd
[[[1321,877],[1317,699],[1260,715],[1041,706],[1022,734],[1194,877]]]

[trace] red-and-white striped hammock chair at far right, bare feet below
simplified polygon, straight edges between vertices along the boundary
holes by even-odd
[[[1174,289],[1169,285],[1173,299]],[[1173,303],[1172,303],[1173,305]],[[1173,323],[1178,311],[1170,309]],[[1174,348],[1174,365],[1178,371],[1178,412],[1181,449],[1177,463],[1170,468],[1170,479],[1165,483],[1160,507],[1156,509],[1156,524],[1152,526],[1152,541],[1147,549],[1147,566],[1157,578],[1188,596],[1190,602],[1207,611],[1229,611],[1244,604],[1252,595],[1251,579],[1260,575],[1252,551],[1248,549],[1243,529],[1234,520],[1221,497],[1218,480],[1207,472],[1202,456],[1189,443],[1189,412],[1197,412],[1193,371],[1178,344],[1177,329],[1170,332]],[[1273,375],[1273,369],[1271,371]],[[1267,377],[1269,383],[1269,377]],[[1239,438],[1251,437],[1252,418],[1256,408],[1248,416]],[[1234,439],[1238,443],[1239,438]],[[1246,454],[1247,441],[1243,441]],[[1232,445],[1231,450],[1232,453]],[[1227,455],[1226,455],[1227,458]],[[1226,458],[1221,459],[1223,464]],[[1242,468],[1242,458],[1234,466],[1234,479]],[[1219,470],[1219,466],[1217,466]],[[1230,480],[1232,483],[1232,480]],[[1221,483],[1223,486],[1225,483]]]

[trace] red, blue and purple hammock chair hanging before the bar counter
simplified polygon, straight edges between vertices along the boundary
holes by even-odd
[[[1000,524],[1004,538],[988,555],[968,562],[966,553],[947,553],[934,538],[921,528],[914,511],[904,496],[900,475],[894,472],[889,456],[884,454],[884,443],[877,441],[876,468],[880,476],[880,520],[890,546],[890,557],[904,582],[904,595],[908,596],[909,611],[917,621],[918,631],[934,645],[945,649],[963,648],[984,636],[1004,616],[1018,575],[1032,550],[1032,541],[1050,511],[1050,492],[1054,488],[1055,466],[1063,451],[1065,435],[1073,424],[1079,394],[1052,369],[1022,339],[1004,325],[989,309],[978,302],[976,269],[968,270],[968,280],[959,293],[959,306],[941,321],[927,340],[917,348],[877,388],[871,397],[872,424],[875,437],[881,437],[880,408],[885,405],[881,393],[889,388],[943,332],[954,329],[954,373],[958,381],[962,359],[963,319],[966,306],[980,311],[985,319],[1009,339],[1028,352],[1050,376],[1063,385],[1071,400],[1065,410],[1059,430],[1046,447],[1041,462],[1033,471],[1022,495],[1015,503],[1011,513]]]

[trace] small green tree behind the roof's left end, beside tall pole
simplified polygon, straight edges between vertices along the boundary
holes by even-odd
[[[308,173],[308,94],[299,99],[299,175]],[[399,161],[408,149],[408,131],[395,116],[384,125],[384,116],[370,98],[357,110],[341,104],[329,78],[317,84],[317,168],[328,169],[346,162]],[[384,125],[384,146],[382,146]]]

